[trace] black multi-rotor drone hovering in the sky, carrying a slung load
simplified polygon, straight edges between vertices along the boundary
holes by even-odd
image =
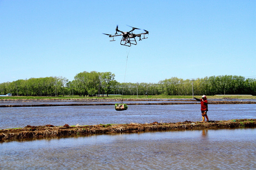
[[[132,26],[130,26],[130,27],[132,27]],[[135,37],[140,37],[140,40],[148,38],[148,37],[145,37],[145,34],[148,34],[147,30],[144,30],[145,33],[139,33],[139,34],[132,33],[136,29],[140,30],[139,28],[132,27],[131,31],[123,32],[123,31],[118,30],[118,25],[117,25],[116,26],[116,33],[115,33],[115,35],[106,34],[106,33],[103,33],[103,34],[108,35],[109,37],[113,37],[113,40],[110,40],[110,41],[116,41],[116,40],[114,40],[114,38],[116,36],[123,36],[122,39],[121,39],[120,44],[124,45],[124,46],[131,47],[132,44],[137,45],[137,41],[136,41]],[[117,32],[120,32],[121,34],[117,35]],[[143,38],[141,38],[141,35],[143,35]]]

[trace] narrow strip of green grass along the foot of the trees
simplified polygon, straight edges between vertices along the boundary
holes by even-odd
[[[194,96],[196,98],[201,98],[200,96]],[[123,99],[192,99],[193,96],[169,96],[169,95],[124,95]],[[207,96],[207,99],[256,99],[256,96]],[[9,97],[0,97],[1,100],[84,100],[84,99],[122,99],[122,95],[104,95],[104,97],[79,97],[79,96],[59,96],[59,97],[51,97],[51,96],[9,96]]]

